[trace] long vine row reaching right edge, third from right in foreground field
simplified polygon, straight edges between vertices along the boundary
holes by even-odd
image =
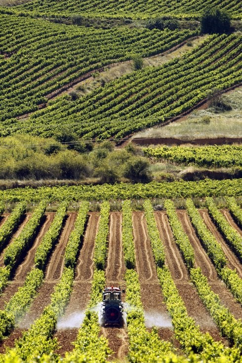
[[[213,234],[207,229],[192,200],[187,200],[186,205],[192,224],[208,256],[213,262],[219,277],[225,282],[233,296],[242,303],[242,280],[238,276],[236,270],[233,271],[224,266],[224,261],[227,263],[227,258],[223,253],[220,244],[217,242]]]

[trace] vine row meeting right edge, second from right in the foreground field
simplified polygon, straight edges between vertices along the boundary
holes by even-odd
[[[218,230],[221,232],[225,240],[230,244],[235,254],[242,261],[242,238],[239,233],[231,227],[223,214],[218,210],[211,198],[206,198],[206,206],[208,212],[215,223]]]

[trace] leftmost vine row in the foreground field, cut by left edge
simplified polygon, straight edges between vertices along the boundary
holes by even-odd
[[[6,222],[0,228],[0,251],[4,247],[5,242],[9,239],[20,219],[26,212],[26,204],[24,202],[19,203],[12,211]]]

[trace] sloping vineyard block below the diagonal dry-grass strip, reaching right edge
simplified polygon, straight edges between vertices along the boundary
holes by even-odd
[[[182,58],[125,75],[73,102],[60,97],[28,121],[3,122],[1,132],[52,136],[64,122],[80,137],[106,139],[162,123],[191,109],[212,88],[242,81],[241,40],[240,33],[210,36]]]

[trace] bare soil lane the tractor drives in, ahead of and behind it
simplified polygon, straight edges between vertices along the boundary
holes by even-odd
[[[124,259],[122,251],[122,215],[120,212],[111,212],[109,220],[109,249],[106,268],[106,285],[125,286]],[[125,301],[125,294],[122,294]],[[128,353],[128,335],[126,327],[102,327],[103,335],[108,339],[109,347],[114,352],[110,360],[123,359]]]

